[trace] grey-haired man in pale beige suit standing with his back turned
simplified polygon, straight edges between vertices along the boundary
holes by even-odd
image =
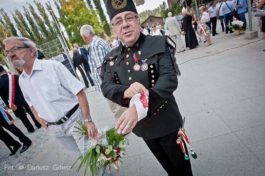
[[[166,29],[169,30],[170,37],[176,43],[177,52],[178,53],[180,51],[183,52],[185,50],[184,50],[184,45],[180,37],[181,29],[180,29],[179,23],[175,17],[172,18],[172,12],[168,12],[167,15],[168,15],[168,19],[165,22]]]

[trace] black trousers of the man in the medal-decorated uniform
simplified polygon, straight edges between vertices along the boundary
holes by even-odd
[[[190,160],[184,158],[184,153],[176,143],[178,131],[166,136],[145,140],[145,143],[169,176],[192,176]],[[188,150],[184,143],[186,153]]]

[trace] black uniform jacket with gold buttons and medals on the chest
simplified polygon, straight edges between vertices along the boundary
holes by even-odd
[[[133,54],[137,56],[139,65],[143,64],[142,59],[147,59],[146,71],[133,69]],[[109,65],[111,60],[113,66]],[[124,104],[123,93],[132,83],[139,82],[149,90],[147,116],[137,122],[133,133],[149,140],[170,134],[181,127],[182,117],[173,96],[178,79],[165,36],[141,33],[133,46],[114,48],[104,61],[107,65],[101,89],[107,99],[128,107],[129,103]]]

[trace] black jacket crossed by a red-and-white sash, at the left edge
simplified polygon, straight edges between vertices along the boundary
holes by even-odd
[[[19,83],[18,83],[18,76],[14,75],[15,77],[15,98],[14,104],[16,106],[21,106],[22,104],[26,103],[24,96],[21,92]],[[8,99],[9,99],[9,80],[8,75],[3,74],[0,77],[0,96],[2,100],[6,103],[7,107],[9,107]]]

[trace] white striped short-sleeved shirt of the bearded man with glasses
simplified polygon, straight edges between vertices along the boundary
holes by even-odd
[[[60,62],[35,59],[30,75],[23,70],[19,85],[29,106],[49,122],[60,120],[77,103],[85,87]]]

